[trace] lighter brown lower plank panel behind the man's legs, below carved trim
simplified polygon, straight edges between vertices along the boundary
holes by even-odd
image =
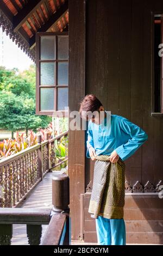
[[[97,243],[96,223],[88,212],[91,193],[83,197],[84,241]],[[124,220],[127,243],[163,244],[163,209],[158,195],[126,195]]]

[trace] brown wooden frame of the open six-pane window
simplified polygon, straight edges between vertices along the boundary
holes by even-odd
[[[67,60],[59,60],[56,58],[56,54],[57,54],[57,47],[58,45],[55,45],[55,60],[41,60],[40,59],[40,39],[41,36],[51,36],[51,35],[55,35],[55,36],[60,36],[60,35],[67,35],[68,36],[68,32],[37,32],[36,33],[36,114],[37,115],[51,115],[53,117],[68,117],[68,108],[67,111],[61,111],[61,110],[57,110],[57,104],[58,104],[58,94],[57,94],[57,88],[68,88],[68,84],[67,85],[57,85],[56,81],[57,81],[57,66],[55,66],[55,87],[54,86],[46,86],[46,85],[40,85],[40,63],[57,63],[57,62],[67,62],[68,63],[68,59]],[[40,106],[40,88],[54,88],[55,90],[55,94],[54,94],[54,110],[53,111],[41,111],[41,106]],[[69,104],[68,104],[69,105]]]

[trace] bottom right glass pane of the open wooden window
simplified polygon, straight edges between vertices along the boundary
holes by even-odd
[[[68,107],[68,88],[58,88],[57,109],[65,110]]]

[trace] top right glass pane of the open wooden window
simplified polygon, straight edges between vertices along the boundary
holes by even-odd
[[[58,59],[68,59],[68,36],[58,36]]]

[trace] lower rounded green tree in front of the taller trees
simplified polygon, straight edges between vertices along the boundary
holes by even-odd
[[[46,127],[51,121],[49,117],[35,115],[35,102],[24,96],[16,96],[11,92],[0,92],[0,129],[14,131]]]

